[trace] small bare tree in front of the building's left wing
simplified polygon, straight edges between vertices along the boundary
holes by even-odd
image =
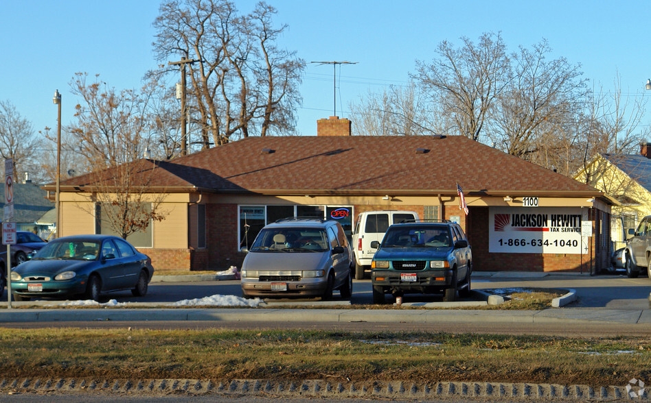
[[[93,217],[99,211],[102,221],[126,239],[165,217],[160,211],[164,189],[151,191],[157,166],[141,158],[151,128],[146,118],[152,87],[118,93],[98,76],[87,82],[86,73],[77,73],[70,86],[83,101],[67,131],[90,171],[85,188],[93,204],[82,208]]]

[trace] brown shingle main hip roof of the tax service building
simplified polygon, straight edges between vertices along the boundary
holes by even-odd
[[[467,194],[599,194],[463,136],[249,137],[159,167],[157,186],[221,192],[454,194],[459,182]]]

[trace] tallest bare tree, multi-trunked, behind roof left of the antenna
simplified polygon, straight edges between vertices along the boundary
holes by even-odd
[[[240,15],[228,0],[173,0],[154,22],[154,49],[161,61],[185,57],[189,92],[201,122],[203,147],[231,138],[293,130],[298,85],[305,62],[277,40],[276,10],[258,3]],[[162,69],[150,74],[174,73]]]

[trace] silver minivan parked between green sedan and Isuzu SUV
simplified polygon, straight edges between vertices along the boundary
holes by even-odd
[[[266,225],[242,263],[244,297],[352,295],[351,253],[336,221],[291,217]]]

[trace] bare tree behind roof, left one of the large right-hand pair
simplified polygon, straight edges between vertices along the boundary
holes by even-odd
[[[416,62],[411,77],[451,119],[448,134],[479,141],[494,101],[508,84],[509,58],[500,34],[483,34],[477,45],[461,40],[460,48],[446,40],[439,43],[438,57],[430,64]]]

